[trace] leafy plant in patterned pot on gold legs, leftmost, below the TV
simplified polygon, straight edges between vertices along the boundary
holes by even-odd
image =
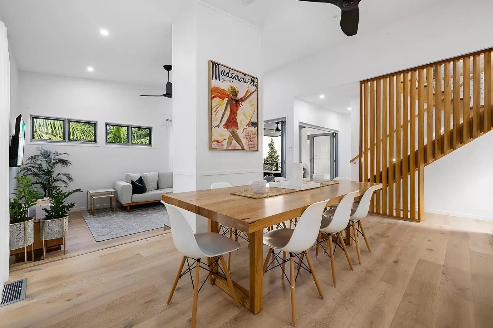
[[[40,197],[39,191],[32,187],[32,180],[26,176],[15,177],[17,183],[13,198],[9,204],[10,216],[10,250],[24,247],[34,243],[34,217],[29,217],[29,208],[36,204]],[[27,262],[27,258],[25,258]]]

